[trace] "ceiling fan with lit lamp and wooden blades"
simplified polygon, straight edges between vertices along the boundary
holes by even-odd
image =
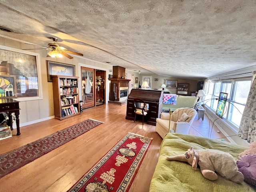
[[[67,58],[72,59],[73,57],[70,56],[67,53],[74,54],[74,55],[79,55],[79,56],[84,56],[81,53],[68,51],[66,48],[60,46],[59,44],[56,44],[56,41],[58,40],[57,38],[52,37],[51,39],[53,40],[53,43],[48,43],[48,47],[42,48],[42,49],[50,50],[48,52],[47,57],[59,58],[59,57],[62,57],[62,56],[66,56]],[[28,43],[26,43],[26,44],[28,44]],[[30,45],[35,45],[35,44],[30,44]],[[35,45],[35,46],[38,46],[38,45]],[[23,50],[33,50],[33,49],[23,49]]]

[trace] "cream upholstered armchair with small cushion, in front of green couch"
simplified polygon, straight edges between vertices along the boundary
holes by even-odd
[[[162,138],[168,132],[188,134],[195,117],[196,110],[193,108],[178,108],[171,115],[169,113],[161,113],[160,118],[156,119],[156,132]]]

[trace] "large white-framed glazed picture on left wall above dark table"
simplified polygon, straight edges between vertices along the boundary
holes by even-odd
[[[40,54],[0,45],[0,95],[18,101],[42,99]]]

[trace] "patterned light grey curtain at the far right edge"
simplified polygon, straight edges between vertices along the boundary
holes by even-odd
[[[256,140],[256,71],[253,72],[253,80],[239,126],[238,136],[252,143]]]

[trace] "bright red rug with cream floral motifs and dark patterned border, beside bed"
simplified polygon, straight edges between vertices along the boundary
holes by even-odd
[[[151,140],[128,133],[68,192],[125,192],[130,188]]]

